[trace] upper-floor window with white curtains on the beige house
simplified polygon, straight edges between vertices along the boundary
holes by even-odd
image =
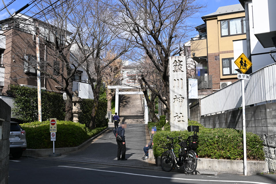
[[[221,21],[221,37],[246,33],[245,18],[235,18]]]

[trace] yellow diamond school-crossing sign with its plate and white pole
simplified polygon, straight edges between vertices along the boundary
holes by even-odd
[[[237,78],[241,79],[241,96],[242,96],[242,127],[244,139],[244,175],[247,175],[247,156],[246,156],[246,124],[245,124],[245,95],[244,95],[244,80],[249,80],[250,75],[245,72],[252,66],[250,60],[242,53],[234,62],[242,74],[237,74]]]

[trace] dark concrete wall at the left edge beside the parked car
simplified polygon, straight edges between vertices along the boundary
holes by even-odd
[[[9,179],[9,131],[11,108],[0,99],[0,126],[2,136],[0,139],[0,184],[7,184]]]

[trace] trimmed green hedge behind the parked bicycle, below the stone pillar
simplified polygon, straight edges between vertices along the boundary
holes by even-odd
[[[196,121],[188,121],[188,125],[199,126],[198,133],[198,148],[197,153],[200,158],[213,158],[213,159],[230,159],[242,160],[243,159],[243,131],[235,129],[215,128],[209,129],[203,127]],[[166,146],[169,137],[180,136],[187,139],[193,132],[188,131],[158,131],[154,135],[154,156],[161,156],[164,152],[162,147]],[[178,140],[175,139],[174,150],[178,155]],[[264,151],[262,141],[258,135],[246,132],[246,150],[248,160],[264,160]]]

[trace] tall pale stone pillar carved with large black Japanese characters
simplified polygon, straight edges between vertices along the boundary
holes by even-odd
[[[169,57],[170,65],[170,130],[187,130],[186,57]]]

